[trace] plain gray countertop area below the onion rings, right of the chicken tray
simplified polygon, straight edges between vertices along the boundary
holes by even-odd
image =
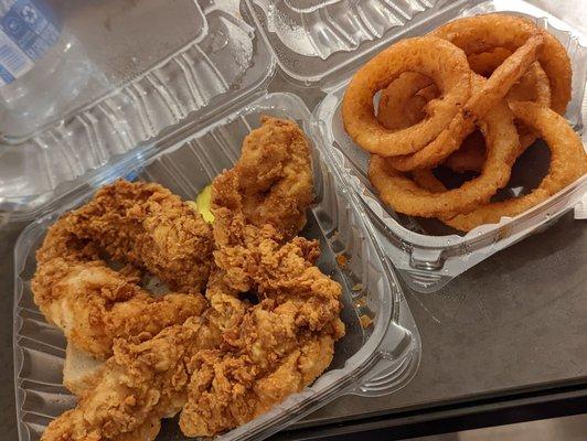
[[[302,424],[585,381],[586,269],[587,223],[569,213],[440,292],[406,291],[421,336],[414,380],[392,396],[340,398]]]

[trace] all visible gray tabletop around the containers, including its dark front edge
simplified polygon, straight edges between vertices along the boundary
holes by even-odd
[[[587,31],[587,0],[533,3]],[[280,87],[292,86],[274,82],[273,88]],[[295,92],[310,108],[319,99],[312,90]],[[0,280],[6,299],[0,308],[0,427],[6,440],[17,439],[12,250],[21,228],[9,225],[0,229]],[[438,293],[417,294],[406,289],[423,344],[419,372],[406,388],[381,398],[342,397],[275,438],[327,438],[362,430],[361,421],[389,426],[382,421],[401,416],[407,416],[403,418],[408,423],[414,415],[441,405],[479,405],[489,397],[503,402],[517,392],[526,392],[523,399],[535,404],[540,398],[532,397],[565,385],[585,388],[579,396],[587,397],[586,294],[587,223],[574,220],[569,213],[546,232],[492,256]],[[579,404],[587,406],[587,401]],[[561,412],[565,409],[559,407]],[[461,413],[447,415],[458,418]],[[357,421],[354,427],[353,421]],[[323,429],[325,424],[330,429]]]

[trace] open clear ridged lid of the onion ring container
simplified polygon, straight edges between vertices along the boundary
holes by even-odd
[[[434,22],[448,0],[246,0],[279,66],[292,78],[322,89],[346,78],[357,58]],[[364,58],[363,58],[364,60]]]

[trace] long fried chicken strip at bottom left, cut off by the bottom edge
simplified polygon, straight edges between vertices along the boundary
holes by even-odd
[[[218,347],[227,329],[241,323],[247,302],[212,272],[206,290],[210,308],[182,325],[166,327],[153,338],[134,344],[117,340],[77,407],[54,420],[43,441],[152,440],[160,420],[186,401],[188,363],[201,349]],[[151,437],[151,438],[149,438]]]

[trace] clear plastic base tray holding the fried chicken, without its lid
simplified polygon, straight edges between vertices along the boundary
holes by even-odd
[[[193,200],[217,173],[232,166],[243,138],[259,125],[262,115],[296,119],[313,141],[317,197],[303,235],[321,241],[319,266],[343,287],[346,335],[337,344],[329,370],[311,387],[218,439],[259,440],[338,396],[385,395],[413,377],[420,356],[419,335],[398,280],[376,240],[373,224],[357,195],[344,183],[332,150],[317,137],[303,103],[295,95],[270,94],[230,115],[225,112],[211,125],[194,121],[168,133],[159,140],[157,149],[104,170],[65,195],[57,209],[24,230],[17,244],[14,280],[14,372],[21,441],[38,440],[51,419],[75,402],[62,385],[65,338],[45,322],[30,288],[36,267],[35,250],[47,226],[61,213],[81,205],[96,189],[118,178],[159,182],[183,198]],[[348,257],[345,268],[337,263],[339,254]],[[362,314],[373,319],[371,326],[363,329]],[[169,427],[175,424],[166,426]],[[158,439],[183,438],[179,432],[164,431]]]

